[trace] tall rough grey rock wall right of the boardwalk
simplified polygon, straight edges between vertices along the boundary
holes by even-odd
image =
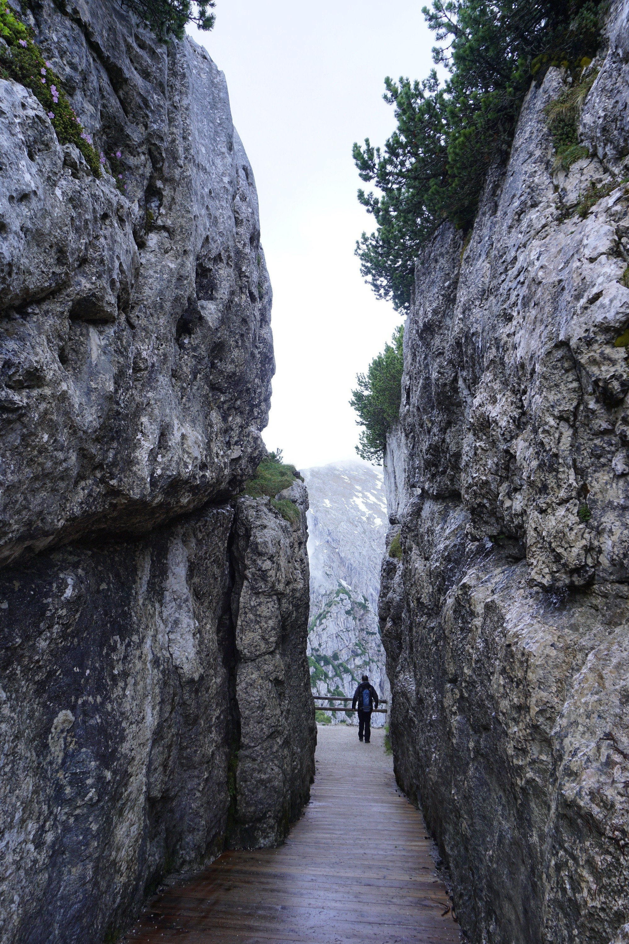
[[[406,322],[391,739],[474,944],[608,944],[629,919],[628,16],[592,66],[590,158],[554,174],[551,69]]]

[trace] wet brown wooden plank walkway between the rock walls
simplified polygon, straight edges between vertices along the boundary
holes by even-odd
[[[224,852],[157,896],[136,944],[458,944],[421,815],[397,790],[382,728],[319,727],[305,815],[279,849]]]

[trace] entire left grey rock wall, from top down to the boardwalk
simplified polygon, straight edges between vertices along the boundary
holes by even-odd
[[[19,11],[17,4],[13,8]],[[32,11],[31,11],[32,10]],[[263,455],[271,287],[223,74],[114,0],[23,16],[120,186],[0,79],[0,937],[114,939],[308,796],[304,486]]]

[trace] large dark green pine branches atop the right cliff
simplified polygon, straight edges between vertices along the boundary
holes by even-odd
[[[388,77],[395,131],[382,149],[369,138],[354,144],[359,177],[379,191],[358,191],[376,229],[356,244],[376,295],[407,309],[422,245],[444,220],[472,226],[488,168],[508,156],[531,81],[551,65],[573,69],[592,59],[605,9],[606,0],[433,0],[423,8],[447,81],[435,70],[423,81]]]

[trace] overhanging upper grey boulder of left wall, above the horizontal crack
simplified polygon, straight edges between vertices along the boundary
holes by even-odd
[[[263,453],[274,369],[223,74],[114,0],[33,8],[81,123],[121,153],[124,193],[0,80],[4,561],[231,494]]]

